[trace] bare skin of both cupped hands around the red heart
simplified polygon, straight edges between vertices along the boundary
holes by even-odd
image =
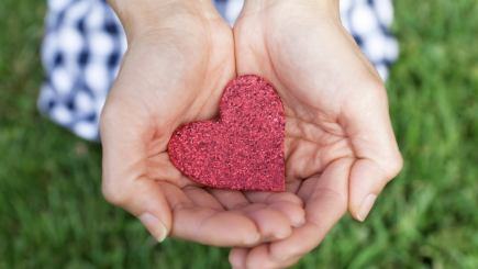
[[[347,209],[363,221],[400,171],[383,83],[337,1],[248,0],[234,30],[209,0],[110,3],[129,49],[100,120],[103,193],[158,240],[234,247],[235,269],[289,267]],[[282,99],[286,192],[204,188],[169,160],[176,127],[216,119],[246,74]]]

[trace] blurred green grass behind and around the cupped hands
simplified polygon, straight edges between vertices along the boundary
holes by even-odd
[[[294,268],[478,268],[478,1],[397,0],[387,81],[403,171]],[[0,1],[0,268],[229,268],[229,249],[167,239],[100,191],[101,147],[43,119],[45,1]]]

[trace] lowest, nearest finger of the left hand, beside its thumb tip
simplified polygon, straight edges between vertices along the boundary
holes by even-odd
[[[176,186],[157,184],[171,206],[171,237],[219,247],[252,246],[260,239],[255,223],[244,214],[197,206]]]

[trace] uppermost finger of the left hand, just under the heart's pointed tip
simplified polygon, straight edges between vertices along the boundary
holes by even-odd
[[[305,223],[303,202],[293,193],[246,191],[244,194],[251,202],[267,204],[268,209],[286,215],[291,226],[299,227]]]

